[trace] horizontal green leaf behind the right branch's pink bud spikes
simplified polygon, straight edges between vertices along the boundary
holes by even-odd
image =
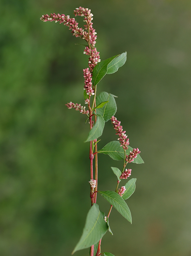
[[[114,160],[124,160],[124,149],[120,146],[119,141],[110,141],[105,145],[98,153],[103,153],[109,155]],[[128,155],[133,148],[128,146],[126,154]],[[144,163],[143,159],[140,157],[140,154],[137,155],[137,158],[134,158],[132,163]]]

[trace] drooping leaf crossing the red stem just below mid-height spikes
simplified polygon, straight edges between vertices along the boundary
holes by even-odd
[[[89,131],[87,141],[93,141],[102,135],[104,130],[105,121],[101,115],[97,115],[97,121],[94,127]]]

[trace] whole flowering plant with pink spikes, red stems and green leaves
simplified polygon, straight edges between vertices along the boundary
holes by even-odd
[[[92,27],[92,16],[91,10],[82,7],[74,10],[75,16],[84,17],[84,29],[78,27],[78,23],[74,18],[70,18],[69,15],[64,14],[51,14],[43,15],[40,19],[43,21],[55,21],[63,23],[71,29],[71,33],[75,37],[80,37],[86,41],[86,47],[83,54],[89,56],[88,68],[83,69],[84,77],[84,99],[87,104],[88,110],[85,110],[85,106],[81,104],[75,104],[69,102],[66,104],[68,109],[74,108],[82,114],[87,115],[89,119],[90,131],[88,133],[85,142],[90,142],[90,198],[91,208],[87,214],[85,227],[83,234],[75,246],[72,254],[81,249],[90,247],[90,256],[114,256],[111,253],[101,253],[101,239],[107,230],[112,234],[109,226],[109,215],[112,207],[130,223],[132,223],[131,212],[126,204],[125,200],[128,199],[135,191],[136,179],[130,179],[124,186],[118,189],[119,183],[123,179],[127,179],[131,175],[132,169],[127,169],[128,163],[144,163],[139,153],[138,148],[131,148],[129,146],[129,139],[125,134],[126,131],[120,125],[120,121],[114,116],[117,110],[115,95],[107,92],[101,92],[96,96],[97,85],[100,80],[106,74],[115,73],[119,67],[123,66],[126,61],[127,53],[115,55],[109,59],[100,60],[100,55],[95,48],[96,43],[96,32]],[[92,97],[91,97],[92,96]],[[94,120],[93,120],[94,119]],[[97,149],[97,139],[102,135],[104,130],[105,122],[111,119],[113,128],[116,130],[118,135],[117,141],[111,141],[105,145],[102,149]],[[117,176],[117,185],[115,191],[98,191],[98,154],[108,154],[114,160],[123,160],[122,171],[117,167],[111,167],[114,174]],[[95,168],[93,160],[95,159]],[[99,210],[99,206],[96,203],[97,193],[100,193],[110,204],[108,215],[105,216],[103,212]]]

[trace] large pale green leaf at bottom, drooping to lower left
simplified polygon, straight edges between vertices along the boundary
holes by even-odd
[[[87,214],[82,236],[75,246],[72,254],[76,251],[86,249],[100,241],[108,230],[108,225],[104,220],[104,216],[105,214],[99,210],[99,206],[97,204],[93,204],[93,206],[91,206]]]

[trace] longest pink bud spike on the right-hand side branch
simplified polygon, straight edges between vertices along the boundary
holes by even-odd
[[[111,118],[113,128],[117,131],[116,135],[119,136],[118,140],[120,141],[121,145],[124,150],[128,149],[129,139],[127,139],[127,135],[125,134],[126,131],[123,131],[123,127],[120,125],[120,121],[116,119],[115,116]]]

